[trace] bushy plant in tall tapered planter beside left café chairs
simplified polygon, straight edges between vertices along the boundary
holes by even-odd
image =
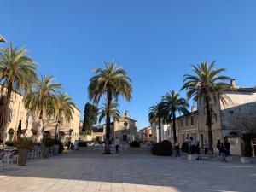
[[[31,140],[27,140],[26,138],[20,138],[15,142],[15,147],[19,149],[18,166],[26,166],[27,153],[32,146],[33,142]]]

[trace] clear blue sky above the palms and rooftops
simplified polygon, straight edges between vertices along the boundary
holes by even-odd
[[[138,127],[148,107],[200,61],[217,61],[238,84],[256,85],[256,2],[245,0],[6,0],[0,34],[25,44],[84,111],[92,69],[115,59],[133,80],[133,100],[120,101]],[[183,93],[184,95],[184,93]]]

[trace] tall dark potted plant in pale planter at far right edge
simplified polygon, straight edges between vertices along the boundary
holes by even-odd
[[[251,163],[251,157],[253,156],[252,134],[245,134],[242,139],[244,141],[244,147],[241,156],[241,163],[248,164]]]

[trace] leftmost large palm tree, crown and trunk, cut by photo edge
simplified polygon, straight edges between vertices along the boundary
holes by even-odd
[[[38,65],[26,55],[27,50],[23,46],[19,48],[9,44],[7,48],[0,49],[0,83],[3,85],[2,90],[6,88],[6,95],[0,98],[0,127],[3,141],[6,136],[5,130],[12,92],[30,91],[32,83],[38,79],[36,73]]]

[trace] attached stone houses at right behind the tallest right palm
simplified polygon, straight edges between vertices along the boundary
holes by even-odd
[[[241,136],[248,132],[256,132],[256,89],[239,88],[235,80],[231,80],[230,89],[224,91],[231,102],[223,104],[219,99],[211,99],[213,147],[218,140],[229,137],[231,154],[241,155]],[[197,102],[197,111],[177,118],[178,141],[183,143],[187,137],[204,143],[208,140],[207,114],[204,102]],[[253,154],[256,154],[256,138],[253,139]]]

